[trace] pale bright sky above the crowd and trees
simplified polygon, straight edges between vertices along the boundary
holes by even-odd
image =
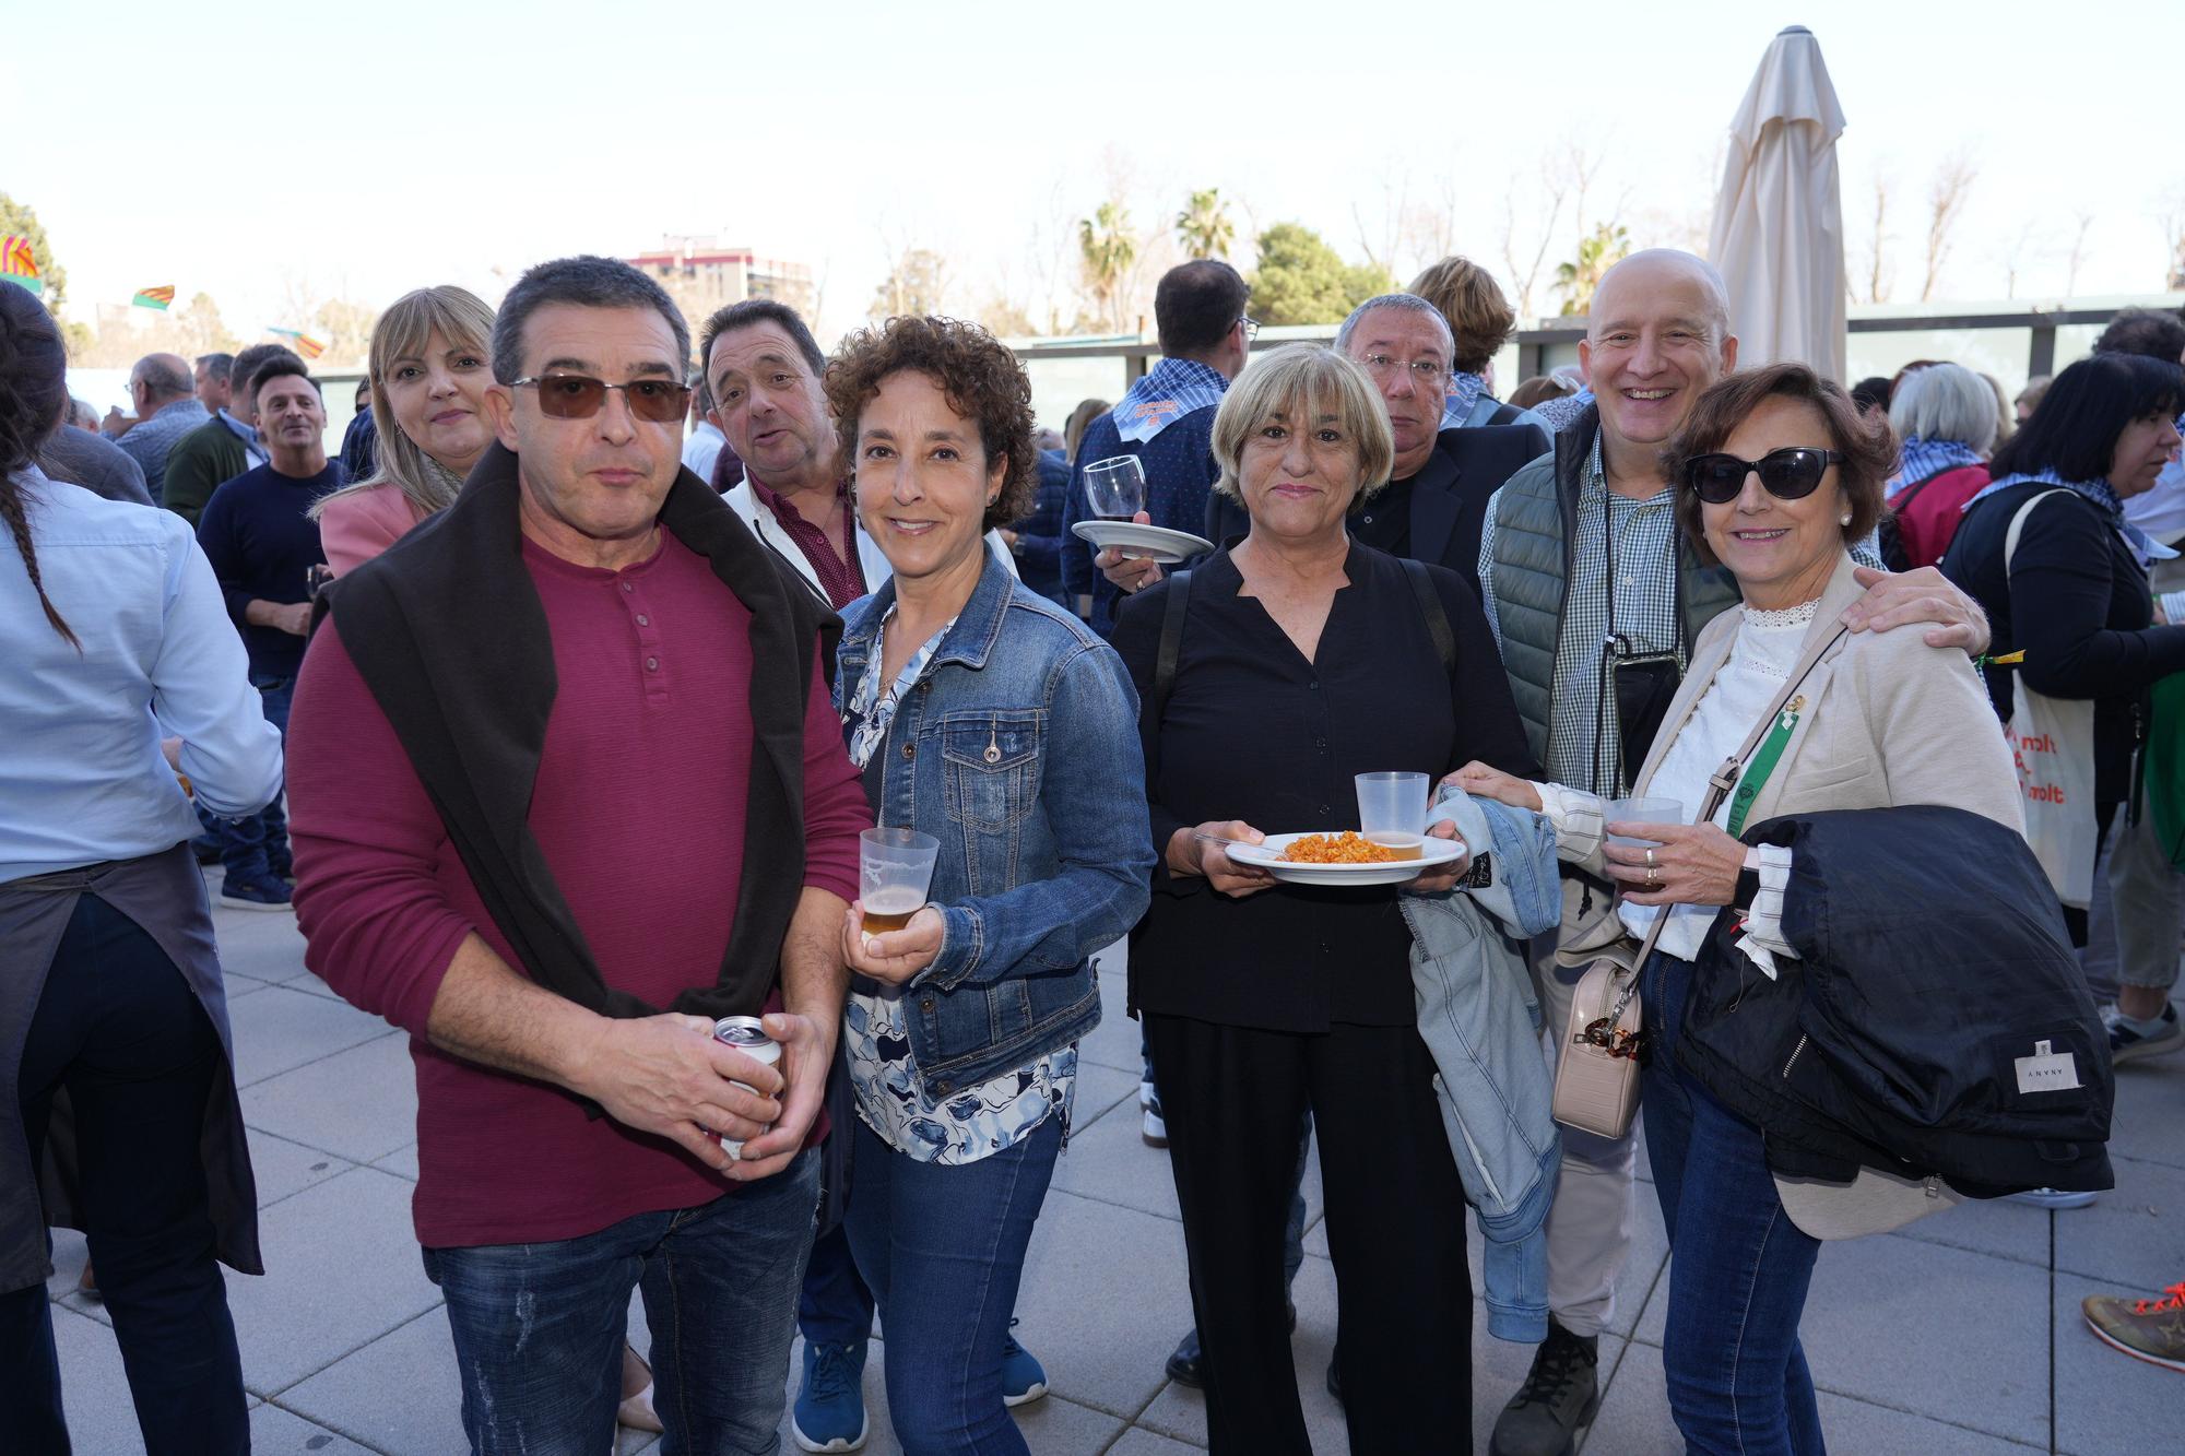
[[[981,280],[950,300],[972,310],[985,284],[1036,293],[1117,179],[1141,227],[1219,186],[1241,232],[1298,219],[1353,256],[1396,232],[1398,195],[1446,195],[1455,245],[1499,267],[1510,179],[1525,212],[1562,136],[1604,155],[1597,199],[1628,197],[1634,240],[1704,225],[1717,138],[1774,31],[1805,22],[1849,116],[1853,238],[1870,177],[1899,181],[1899,302],[1956,151],[1980,177],[1947,295],[2001,297],[2012,254],[2019,297],[2060,293],[2080,212],[2078,293],[2159,286],[2157,216],[2185,214],[2176,11],[1966,11],[46,7],[0,55],[0,190],[39,210],[79,317],[173,282],[238,330],[291,295],[496,297],[540,258],[664,232],[808,262],[835,326],[891,247],[935,247]]]

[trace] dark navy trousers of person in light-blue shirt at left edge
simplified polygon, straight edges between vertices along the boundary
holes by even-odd
[[[81,896],[15,1093],[37,1165],[52,1095],[68,1089],[92,1264],[153,1456],[249,1449],[199,1154],[223,1069],[221,1036],[160,942]],[[0,1452],[66,1449],[52,1305],[33,1283],[0,1294]]]

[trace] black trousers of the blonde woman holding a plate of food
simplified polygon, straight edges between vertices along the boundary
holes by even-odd
[[[1471,1452],[1464,1185],[1418,1030],[1291,1034],[1147,1014],[1145,1034],[1169,1124],[1217,1456],[1313,1449],[1283,1277],[1307,1108],[1320,1126],[1350,1449]]]

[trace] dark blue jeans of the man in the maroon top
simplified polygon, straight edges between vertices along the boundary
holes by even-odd
[[[629,1290],[645,1290],[666,1456],[771,1456],[819,1207],[819,1152],[695,1209],[555,1244],[426,1248],[479,1456],[614,1447]]]

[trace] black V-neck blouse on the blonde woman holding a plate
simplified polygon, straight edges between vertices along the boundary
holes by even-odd
[[[1525,750],[1479,597],[1457,573],[1429,566],[1457,641],[1442,676],[1403,564],[1353,544],[1315,660],[1307,662],[1228,551],[1193,571],[1191,617],[1176,686],[1147,765],[1154,853],[1176,829],[1245,820],[1263,833],[1359,826],[1355,774],[1442,774],[1481,759],[1536,774]],[[1169,582],[1123,603],[1114,647],[1141,697]],[[1248,899],[1204,879],[1154,870],[1154,905],[1132,942],[1136,1010],[1219,1025],[1324,1032],[1328,1023],[1412,1025],[1412,944],[1394,885],[1324,890],[1276,885]]]

